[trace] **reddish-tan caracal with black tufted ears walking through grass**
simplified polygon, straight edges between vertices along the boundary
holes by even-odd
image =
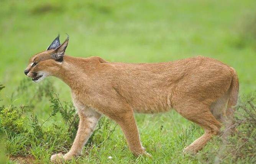
[[[184,149],[196,153],[220,131],[238,97],[235,69],[212,58],[195,57],[166,63],[113,63],[93,56],[65,55],[69,37],[59,36],[46,51],[29,60],[24,71],[34,82],[55,76],[70,88],[80,122],[74,143],[65,155],[51,161],[78,156],[104,114],[120,125],[131,152],[148,155],[141,145],[134,113],[176,110],[200,125],[205,133]]]

